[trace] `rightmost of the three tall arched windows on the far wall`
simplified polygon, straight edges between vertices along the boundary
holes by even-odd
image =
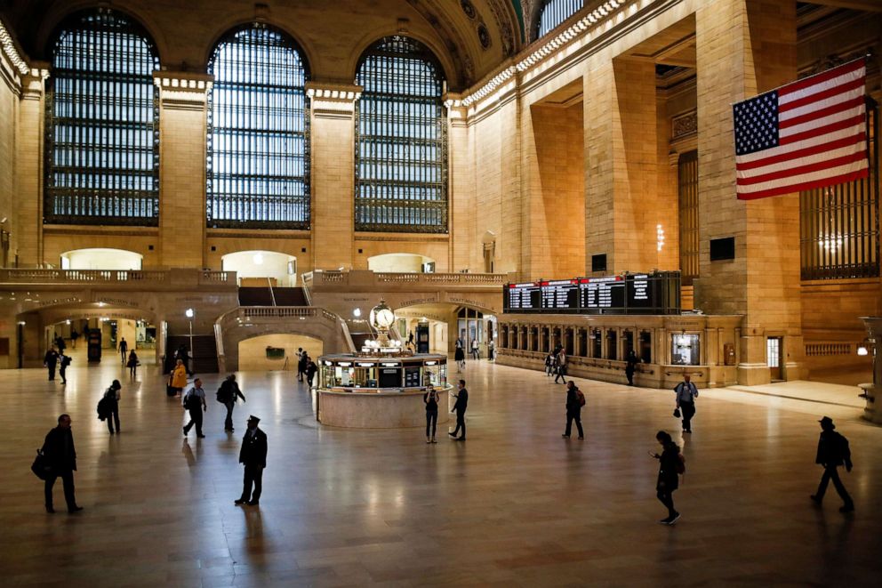
[[[362,55],[356,230],[447,232],[444,77],[428,48],[388,36]]]

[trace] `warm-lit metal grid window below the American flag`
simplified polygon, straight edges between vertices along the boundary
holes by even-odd
[[[878,109],[869,106],[869,177],[800,194],[802,279],[879,275]]]

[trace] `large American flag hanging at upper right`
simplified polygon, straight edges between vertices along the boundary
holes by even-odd
[[[741,200],[867,177],[864,58],[732,107]]]

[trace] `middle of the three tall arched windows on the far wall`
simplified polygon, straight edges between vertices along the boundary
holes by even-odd
[[[308,71],[265,24],[221,39],[208,64],[209,227],[309,229]]]

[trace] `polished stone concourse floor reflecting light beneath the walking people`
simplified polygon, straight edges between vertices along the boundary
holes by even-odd
[[[420,430],[321,427],[309,391],[281,372],[239,375],[248,402],[229,436],[213,400],[220,376],[205,375],[207,437],[183,439],[183,412],[155,367],[130,381],[109,359],[75,366],[66,387],[43,370],[0,373],[4,586],[682,588],[882,577],[882,429],[835,398],[702,393],[694,433],[680,441],[683,516],[664,527],[647,451],[659,429],[680,439],[670,391],[577,381],[587,439],[565,440],[564,386],[469,362],[469,440],[430,446]],[[115,377],[123,433],[109,437],[94,407]],[[74,421],[85,508],[76,515],[45,513],[28,467],[61,412]],[[242,508],[233,499],[249,413],[269,435],[269,467],[261,506]],[[838,512],[832,487],[822,509],[808,500],[822,415],[851,441],[852,515]]]

